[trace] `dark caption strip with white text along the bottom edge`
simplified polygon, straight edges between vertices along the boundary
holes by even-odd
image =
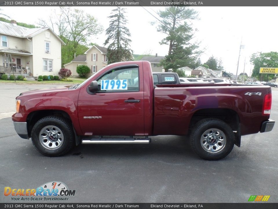
[[[0,203],[0,208],[203,208],[203,209],[276,209],[278,203]]]

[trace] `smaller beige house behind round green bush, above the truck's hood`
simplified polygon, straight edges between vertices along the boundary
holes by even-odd
[[[107,61],[107,48],[94,45],[84,55],[78,55],[64,66],[72,71],[73,77],[77,77],[76,67],[78,65],[87,65],[91,69],[91,72],[88,74],[89,76],[107,66]]]

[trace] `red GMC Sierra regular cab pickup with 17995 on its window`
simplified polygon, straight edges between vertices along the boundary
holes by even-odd
[[[23,92],[12,120],[18,135],[32,138],[47,156],[64,155],[80,142],[189,135],[200,157],[218,160],[240,146],[242,135],[272,130],[271,100],[268,86],[154,85],[150,63],[132,61],[110,64],[74,87]]]

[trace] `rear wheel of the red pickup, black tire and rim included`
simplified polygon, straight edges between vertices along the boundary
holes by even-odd
[[[222,120],[206,118],[194,125],[190,134],[192,149],[205,160],[220,160],[233,149],[235,135]]]

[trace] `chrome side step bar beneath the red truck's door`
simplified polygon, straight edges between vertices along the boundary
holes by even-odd
[[[151,139],[135,138],[93,138],[82,139],[82,144],[149,144]]]

